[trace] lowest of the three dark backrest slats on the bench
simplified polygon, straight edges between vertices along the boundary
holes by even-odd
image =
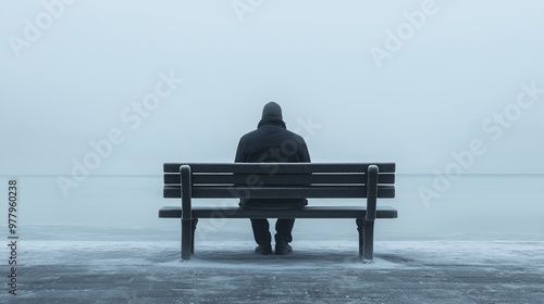
[[[249,197],[247,197],[249,194]],[[180,199],[181,186],[164,186],[163,197]],[[252,199],[292,199],[292,198],[367,198],[367,187],[361,186],[312,186],[312,187],[213,187],[194,186],[193,198],[252,198]],[[394,186],[379,186],[378,198],[395,198]]]

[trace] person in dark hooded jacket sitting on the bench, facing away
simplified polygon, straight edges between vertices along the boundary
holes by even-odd
[[[309,163],[310,154],[302,137],[287,130],[283,121],[282,107],[269,102],[262,110],[262,117],[256,130],[242,137],[236,150],[236,163]],[[273,175],[274,172],[269,173]],[[255,185],[255,183],[254,183]],[[302,208],[306,199],[240,199],[239,206],[260,210]],[[272,253],[270,224],[267,218],[251,218],[256,252]],[[275,224],[275,254],[293,252],[295,218],[279,218]]]

